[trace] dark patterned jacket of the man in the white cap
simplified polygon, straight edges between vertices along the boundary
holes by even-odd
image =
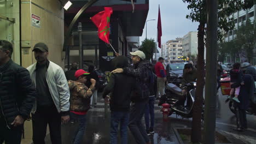
[[[152,73],[152,64],[146,59],[134,64],[132,68],[124,68],[124,74],[136,77],[136,85],[140,88],[133,94],[133,102],[148,100],[150,73]]]

